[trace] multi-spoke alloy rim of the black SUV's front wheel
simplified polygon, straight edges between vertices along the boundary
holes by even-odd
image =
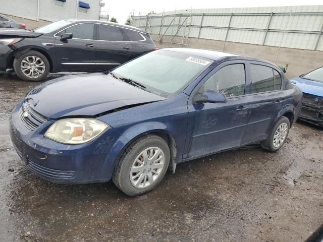
[[[45,72],[45,64],[37,56],[27,56],[20,64],[21,71],[27,77],[37,78]]]

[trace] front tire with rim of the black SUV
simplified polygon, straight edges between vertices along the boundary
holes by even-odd
[[[27,62],[30,64],[29,67]],[[19,58],[15,58],[13,66],[18,77],[24,81],[42,81],[49,73],[48,59],[35,50],[30,50]]]

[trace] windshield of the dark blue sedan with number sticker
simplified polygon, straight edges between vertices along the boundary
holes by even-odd
[[[210,59],[189,54],[156,50],[118,67],[118,77],[131,79],[148,92],[172,98],[184,90],[210,64]]]

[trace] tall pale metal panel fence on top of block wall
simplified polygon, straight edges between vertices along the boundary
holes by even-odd
[[[323,6],[179,10],[133,15],[131,25],[181,45],[194,37],[323,51]]]

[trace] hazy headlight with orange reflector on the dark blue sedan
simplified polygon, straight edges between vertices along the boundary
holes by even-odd
[[[66,118],[52,124],[45,137],[69,145],[89,142],[110,126],[93,118]]]

